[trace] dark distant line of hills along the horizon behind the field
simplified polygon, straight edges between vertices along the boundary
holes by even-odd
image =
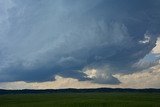
[[[144,92],[144,93],[160,93],[160,89],[122,89],[122,88],[96,88],[96,89],[46,89],[46,90],[4,90],[0,89],[2,94],[38,94],[38,93],[92,93],[92,92]]]

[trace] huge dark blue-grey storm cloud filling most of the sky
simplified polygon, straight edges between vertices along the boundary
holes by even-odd
[[[107,64],[111,74],[103,83],[118,83],[112,74],[134,71],[159,34],[158,0],[13,3],[0,38],[0,81],[48,81],[55,75],[88,80],[79,71]],[[140,44],[146,32],[150,41]]]

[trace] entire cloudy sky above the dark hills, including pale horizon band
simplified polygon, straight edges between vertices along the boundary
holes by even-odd
[[[160,88],[159,0],[0,0],[0,89]]]

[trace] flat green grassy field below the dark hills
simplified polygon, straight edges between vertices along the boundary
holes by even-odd
[[[160,93],[0,95],[0,107],[160,107]]]

